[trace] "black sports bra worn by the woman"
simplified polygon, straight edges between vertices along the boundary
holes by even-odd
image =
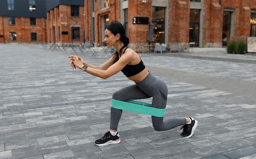
[[[124,49],[124,52],[127,48]],[[123,53],[124,54],[124,53]],[[140,62],[136,65],[126,65],[121,72],[124,73],[124,75],[126,75],[126,77],[131,77],[134,76],[136,74],[138,74],[139,72],[143,71],[145,69],[145,65],[142,62],[142,60],[140,59]]]

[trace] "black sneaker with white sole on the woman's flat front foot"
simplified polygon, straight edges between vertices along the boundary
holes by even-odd
[[[118,144],[120,142],[121,140],[118,133],[117,135],[112,136],[111,133],[108,131],[103,137],[101,137],[101,139],[97,139],[94,143],[97,146],[106,146],[109,144]]]

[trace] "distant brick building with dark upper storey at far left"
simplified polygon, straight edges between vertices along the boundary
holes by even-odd
[[[1,0],[0,43],[45,43],[45,1]]]

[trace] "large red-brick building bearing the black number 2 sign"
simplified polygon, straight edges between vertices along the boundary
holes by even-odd
[[[153,22],[154,42],[168,47],[192,41],[198,47],[222,47],[231,37],[256,36],[255,10],[254,0],[97,0],[92,14],[94,39],[102,43],[106,21],[118,20],[128,30],[132,47],[147,44]],[[136,24],[141,17],[147,17],[148,23]]]

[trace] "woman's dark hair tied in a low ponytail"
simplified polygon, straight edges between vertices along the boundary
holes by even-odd
[[[121,40],[124,44],[124,46],[122,46],[122,48],[119,50],[119,55],[121,56],[122,54],[121,50],[123,48],[126,48],[129,44],[129,38],[126,36],[124,26],[121,23],[114,20],[108,26],[106,26],[105,30],[106,29],[108,29],[114,35],[120,34],[119,40]],[[116,52],[115,54],[117,54],[117,58],[115,60],[115,62],[117,62],[119,59],[118,52]]]

